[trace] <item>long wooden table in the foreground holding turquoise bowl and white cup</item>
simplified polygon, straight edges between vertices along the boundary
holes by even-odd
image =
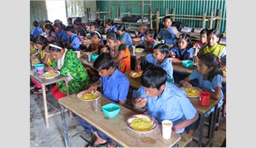
[[[66,147],[69,146],[69,141],[64,113],[65,108],[68,108],[69,111],[72,111],[74,114],[93,125],[96,129],[101,130],[101,132],[105,133],[108,137],[124,147],[172,147],[175,145],[177,146],[179,143],[180,135],[173,131],[171,133],[171,139],[163,139],[161,125],[158,125],[157,129],[149,133],[138,133],[130,130],[127,127],[126,119],[132,115],[137,115],[137,113],[128,108],[119,105],[121,107],[119,114],[113,118],[107,118],[107,116],[102,113],[102,110],[98,113],[93,111],[91,101],[79,100],[76,94],[58,100],[62,108],[62,121]],[[100,99],[102,106],[114,103],[105,97],[101,97]]]

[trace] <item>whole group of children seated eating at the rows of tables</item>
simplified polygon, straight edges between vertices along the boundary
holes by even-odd
[[[220,99],[218,107],[221,107],[224,98],[222,70],[226,71],[226,46],[218,44],[221,35],[219,30],[203,29],[200,40],[193,44],[190,35],[177,33],[171,27],[171,18],[166,16],[163,19],[165,27],[160,29],[156,37],[154,30],[142,24],[135,35],[144,37],[144,40],[133,44],[132,38],[126,32],[126,27],[123,24],[116,27],[111,19],[106,21],[105,28],[100,26],[97,19],[91,22],[90,35],[87,35],[81,24],[80,18],[76,18],[74,24],[72,19],[68,18],[67,26],[63,26],[60,20],[55,20],[53,25],[51,22],[44,24],[43,32],[40,30],[38,21],[33,21],[35,29],[31,33],[30,60],[38,58],[41,63],[49,66],[49,72],[59,70],[62,76],[68,76],[70,94],[86,88],[91,92],[102,87],[103,97],[119,105],[126,105],[129,80],[124,72],[131,70],[128,47],[143,46],[151,53],[140,57],[135,65],[135,71],[143,70],[143,74],[141,75],[142,86],[130,95],[134,108],[146,108],[144,113],[153,116],[159,124],[164,119],[169,119],[174,124],[172,130],[177,133],[186,131],[193,135],[200,117],[185,91],[169,83],[168,79],[176,80],[174,82],[185,88],[191,86],[201,88],[210,93],[213,99]],[[102,34],[107,35],[106,44],[102,40]],[[90,39],[90,44],[81,37],[84,40]],[[81,40],[82,45],[88,45],[88,48],[81,49]],[[165,44],[157,44],[158,40],[165,40]],[[174,47],[170,49],[166,44],[174,44]],[[199,49],[197,53],[194,53],[194,48]],[[87,69],[84,68],[78,56],[85,51],[99,54],[93,67],[97,69],[100,77],[90,86]],[[182,60],[193,60],[197,63],[197,69],[179,80],[174,75],[172,65],[181,63]],[[193,80],[197,80],[197,84],[190,83]],[[30,90],[38,88],[34,93],[40,94],[40,84],[35,80],[32,81],[35,85],[30,86]],[[52,88],[51,92],[55,99],[66,96],[63,83],[57,82]],[[226,90],[226,87],[224,88]],[[214,108],[207,115],[213,110]],[[96,130],[93,125],[81,118],[78,118],[78,121],[87,133],[93,133],[96,136],[93,146],[117,146],[112,139]],[[88,147],[92,146],[88,145]]]

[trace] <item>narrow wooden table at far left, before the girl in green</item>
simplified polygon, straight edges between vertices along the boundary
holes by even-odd
[[[46,66],[44,66],[44,71],[46,71]],[[42,86],[43,104],[44,104],[44,118],[45,118],[45,122],[46,122],[46,127],[48,128],[49,127],[49,118],[54,116],[54,115],[59,115],[60,111],[58,111],[57,113],[52,113],[50,115],[48,114],[45,86],[64,80],[65,85],[66,85],[66,92],[67,92],[67,95],[69,95],[68,77],[59,75],[57,77],[54,77],[53,79],[44,79],[44,78],[39,77],[39,74],[37,72],[35,72],[35,68],[30,69],[30,77],[32,79],[34,79],[36,82],[40,83],[40,85]]]

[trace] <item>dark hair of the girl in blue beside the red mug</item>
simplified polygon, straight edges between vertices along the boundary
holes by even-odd
[[[207,67],[213,67],[213,70],[209,72],[207,80],[212,81],[213,77],[220,74],[222,76],[221,71],[221,59],[215,54],[204,54],[199,57],[199,59],[207,66]]]

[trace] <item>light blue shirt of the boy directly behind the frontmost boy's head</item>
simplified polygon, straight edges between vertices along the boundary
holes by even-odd
[[[163,60],[163,62],[159,65],[157,63],[157,60],[155,60],[153,54],[146,55],[146,61],[149,63],[153,63],[154,65],[162,67],[167,72],[167,77],[173,79],[173,67],[171,64],[171,60],[169,58],[166,58]]]

